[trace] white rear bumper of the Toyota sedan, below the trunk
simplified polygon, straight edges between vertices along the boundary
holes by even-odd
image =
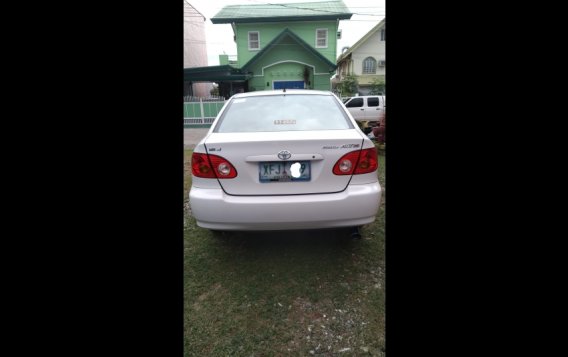
[[[349,185],[331,194],[230,196],[219,189],[192,187],[197,225],[216,230],[289,230],[361,226],[375,220],[381,201],[378,182]]]

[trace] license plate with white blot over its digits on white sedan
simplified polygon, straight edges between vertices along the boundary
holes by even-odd
[[[309,161],[260,162],[258,165],[260,182],[310,181]]]

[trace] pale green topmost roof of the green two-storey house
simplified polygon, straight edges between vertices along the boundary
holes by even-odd
[[[341,0],[287,4],[225,6],[211,18],[214,24],[346,20],[353,14]]]

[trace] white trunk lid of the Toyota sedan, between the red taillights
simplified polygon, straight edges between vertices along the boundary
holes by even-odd
[[[333,166],[346,153],[360,150],[363,140],[356,129],[211,133],[205,147],[237,170],[237,177],[219,179],[227,194],[295,195],[343,191],[351,175],[335,175]],[[297,181],[278,181],[289,175],[286,170],[295,163],[302,165]],[[282,170],[284,175],[279,175]],[[275,177],[276,181],[271,181]]]

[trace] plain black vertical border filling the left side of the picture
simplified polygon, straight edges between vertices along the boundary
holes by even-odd
[[[183,4],[66,6],[18,51],[26,348],[181,356]]]

